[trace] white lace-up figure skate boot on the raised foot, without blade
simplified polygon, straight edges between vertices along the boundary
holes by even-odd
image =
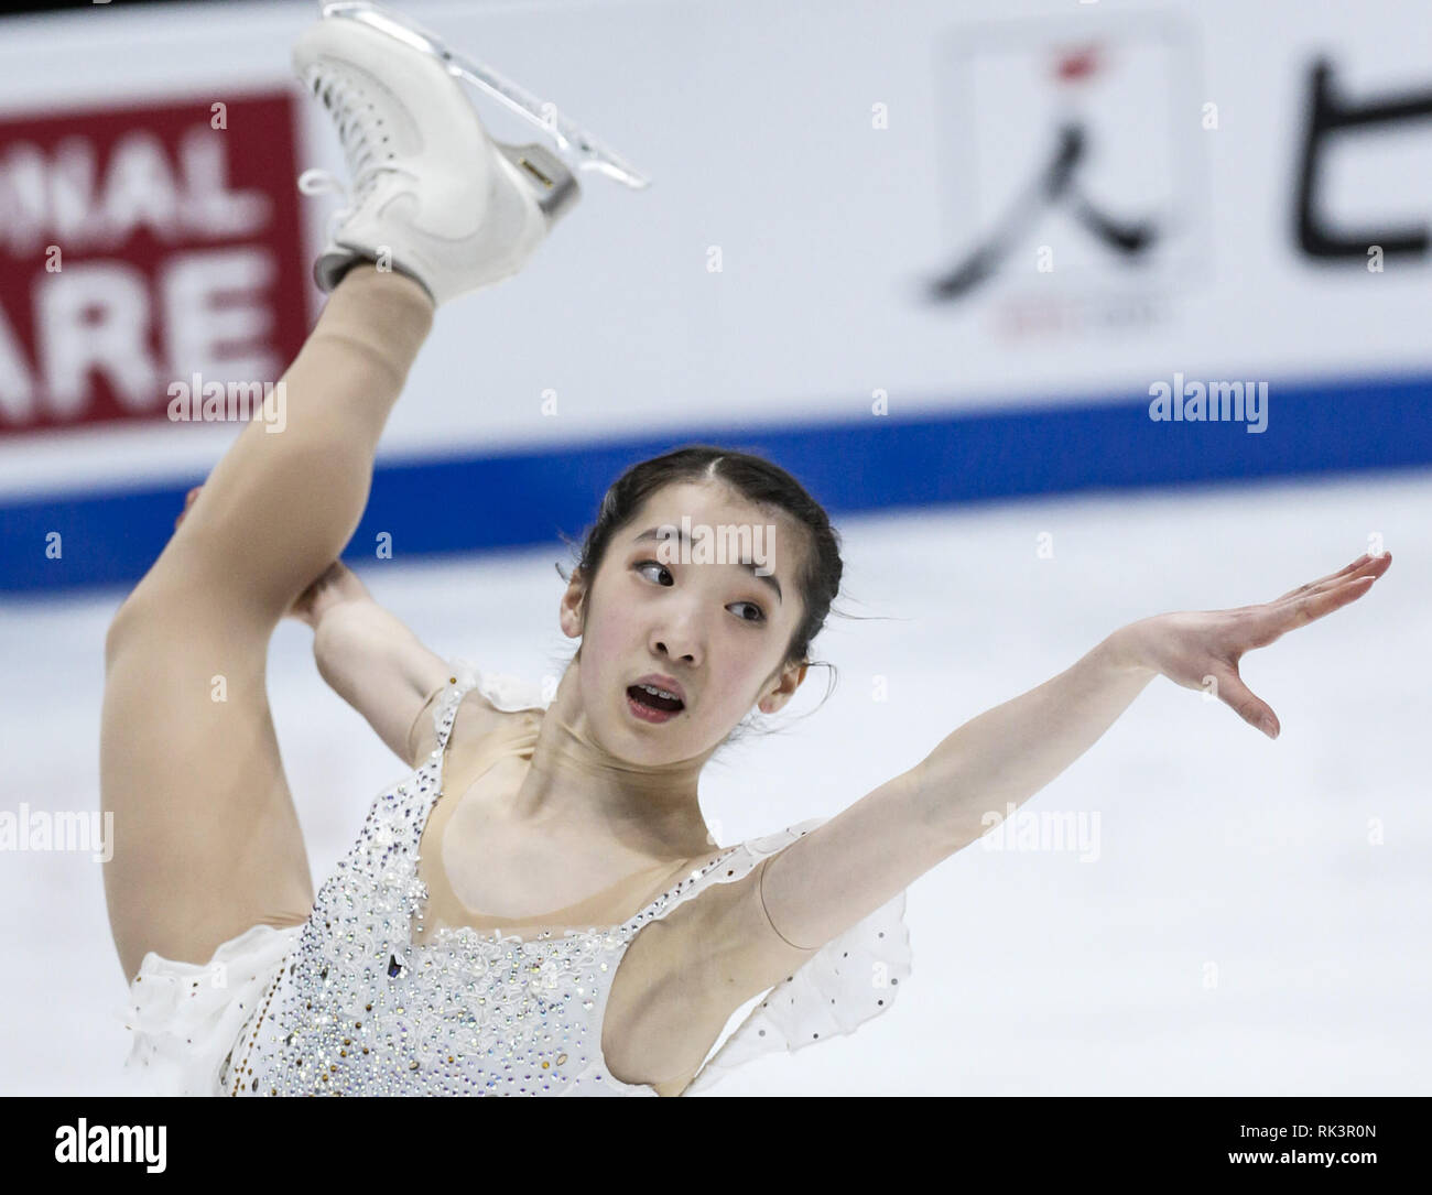
[[[349,266],[371,260],[442,305],[517,273],[580,187],[546,147],[494,142],[432,43],[398,36],[401,23],[394,33],[352,19],[374,13],[329,6],[294,47],[298,77],[338,125],[352,185],[314,279],[332,291]],[[299,189],[344,190],[322,170],[305,170]]]

